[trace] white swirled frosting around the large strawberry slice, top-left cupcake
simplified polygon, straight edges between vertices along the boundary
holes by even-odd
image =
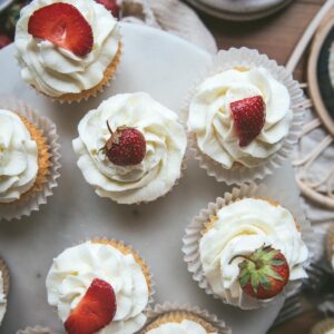
[[[22,67],[24,81],[51,97],[63,94],[79,94],[97,86],[118,50],[120,40],[116,19],[94,0],[71,0],[92,29],[91,52],[79,57],[50,41],[28,33],[31,14],[39,8],[66,2],[59,0],[33,0],[21,10],[16,30],[17,57]]]

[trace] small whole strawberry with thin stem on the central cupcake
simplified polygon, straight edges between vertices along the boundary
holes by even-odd
[[[140,164],[146,155],[146,140],[143,134],[125,126],[118,127],[115,132],[107,122],[110,138],[101,150],[108,159],[118,166],[132,166]]]

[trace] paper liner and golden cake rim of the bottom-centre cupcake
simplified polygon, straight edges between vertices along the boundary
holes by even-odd
[[[214,314],[209,314],[207,311],[200,310],[197,306],[181,305],[176,303],[166,302],[158,304],[154,308],[148,311],[147,324],[140,334],[147,333],[147,331],[155,327],[155,324],[163,324],[167,322],[181,322],[183,320],[195,321],[202,324],[208,333],[230,334],[232,330],[226,326],[225,322],[218,320]]]

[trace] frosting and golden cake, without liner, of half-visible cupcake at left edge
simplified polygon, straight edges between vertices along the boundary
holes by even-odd
[[[0,204],[24,200],[47,181],[47,139],[27,118],[0,109]]]

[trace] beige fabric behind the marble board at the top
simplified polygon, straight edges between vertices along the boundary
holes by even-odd
[[[210,53],[217,52],[214,37],[196,12],[178,0],[120,0],[119,4],[122,21],[163,29]]]

